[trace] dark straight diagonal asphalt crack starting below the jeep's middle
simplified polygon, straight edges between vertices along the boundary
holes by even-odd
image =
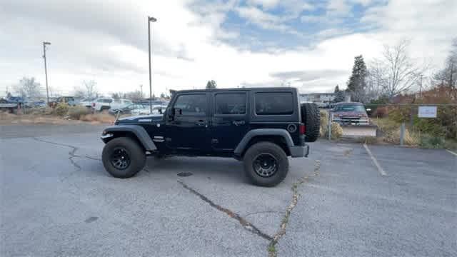
[[[245,218],[239,216],[238,213],[235,213],[235,212],[229,210],[228,208],[224,208],[224,207],[214,203],[209,198],[207,198],[203,194],[199,193],[194,188],[191,188],[183,181],[178,181],[178,183],[180,183],[181,186],[183,186],[184,188],[189,190],[191,193],[194,193],[194,195],[199,196],[201,198],[201,200],[208,203],[211,207],[216,208],[218,211],[222,211],[222,212],[226,213],[230,218],[236,219],[236,221],[238,221],[241,224],[241,226],[243,226],[243,228],[246,229],[247,231],[254,233],[257,236],[260,236],[261,238],[264,238],[268,241],[273,240],[273,238],[271,238],[271,236],[268,236],[266,233],[263,233],[262,231],[260,231],[258,228],[256,228],[256,226],[253,226],[253,224],[251,224],[249,221],[246,221]]]

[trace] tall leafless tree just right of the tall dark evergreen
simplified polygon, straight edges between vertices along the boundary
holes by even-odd
[[[408,56],[409,41],[402,40],[395,46],[384,46],[383,58],[376,60],[376,69],[371,71],[376,85],[392,99],[393,96],[409,91],[423,74],[425,67],[419,67]]]

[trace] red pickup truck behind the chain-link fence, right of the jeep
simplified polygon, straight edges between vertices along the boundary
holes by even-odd
[[[332,120],[341,125],[368,125],[368,114],[362,103],[338,103],[332,111]]]

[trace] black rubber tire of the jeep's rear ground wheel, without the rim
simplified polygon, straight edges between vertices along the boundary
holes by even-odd
[[[267,153],[276,159],[278,168],[272,176],[262,177],[259,176],[253,167],[253,162],[257,156],[262,153]],[[243,157],[244,172],[248,180],[256,186],[276,186],[286,178],[288,173],[288,159],[283,149],[276,143],[271,142],[258,142],[248,148]]]

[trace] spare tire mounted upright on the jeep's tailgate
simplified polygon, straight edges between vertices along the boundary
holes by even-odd
[[[319,129],[321,128],[321,113],[317,104],[303,103],[301,104],[301,122],[305,124],[305,141],[314,142],[319,137]]]

